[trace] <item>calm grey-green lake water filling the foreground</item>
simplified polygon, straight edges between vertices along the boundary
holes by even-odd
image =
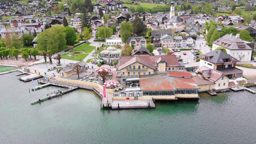
[[[61,88],[30,94],[32,83],[19,81],[16,74],[0,75],[0,144],[256,143],[256,95],[249,92],[200,94],[199,101],[118,111],[102,110],[94,92],[79,89],[30,105]]]

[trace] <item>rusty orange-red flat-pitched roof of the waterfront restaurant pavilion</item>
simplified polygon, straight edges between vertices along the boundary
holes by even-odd
[[[171,77],[167,73],[142,75],[140,77],[140,84],[142,91],[199,89],[193,79]]]

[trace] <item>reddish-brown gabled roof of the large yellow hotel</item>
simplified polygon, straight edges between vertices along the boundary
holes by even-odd
[[[121,56],[119,59],[119,68],[118,70],[124,69],[125,67],[139,62],[151,69],[155,69],[158,66],[158,60],[161,58],[166,62],[166,66],[181,66],[177,58],[173,55],[166,56]]]

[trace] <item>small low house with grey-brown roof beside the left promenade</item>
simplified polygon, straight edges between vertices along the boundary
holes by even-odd
[[[59,70],[60,76],[69,77],[71,75],[76,74],[77,72],[74,72],[74,68],[77,65],[80,67],[80,69],[81,69],[80,71],[82,71],[83,69],[85,69],[85,65],[87,65],[87,64],[83,61],[77,62],[77,63],[69,63],[65,67],[63,67],[62,69]]]

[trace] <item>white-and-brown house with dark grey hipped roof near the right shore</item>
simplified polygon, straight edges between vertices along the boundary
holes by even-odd
[[[236,68],[236,62],[239,62],[239,60],[223,52],[223,49],[214,50],[200,56],[200,67],[218,70],[229,79],[243,76],[243,71]]]

